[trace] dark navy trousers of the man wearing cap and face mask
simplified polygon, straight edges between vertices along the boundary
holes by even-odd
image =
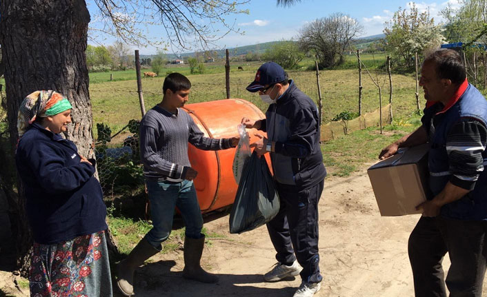
[[[267,224],[270,240],[279,263],[290,264],[297,259],[303,267],[301,279],[321,282],[318,253],[318,202],[324,181],[304,190],[277,185],[281,209]]]

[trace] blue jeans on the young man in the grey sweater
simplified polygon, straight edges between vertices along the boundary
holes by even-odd
[[[192,181],[180,183],[170,181],[146,181],[150,201],[152,229],[146,234],[146,240],[157,249],[168,239],[172,229],[175,207],[181,212],[186,237],[201,238],[203,216],[199,209],[195,185]]]

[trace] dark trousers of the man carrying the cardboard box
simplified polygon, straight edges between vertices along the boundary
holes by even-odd
[[[481,297],[486,272],[485,221],[421,217],[409,237],[408,253],[416,297]],[[446,280],[441,262],[446,252],[451,266]]]

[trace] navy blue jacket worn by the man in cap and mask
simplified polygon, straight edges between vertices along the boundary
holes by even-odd
[[[318,110],[310,97],[290,80],[289,87],[269,106],[261,130],[275,141],[270,153],[277,183],[306,189],[326,176],[319,147]]]

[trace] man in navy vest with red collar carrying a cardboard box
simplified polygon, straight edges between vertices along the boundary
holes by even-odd
[[[430,143],[428,170],[433,199],[410,235],[408,253],[416,296],[482,294],[487,263],[487,101],[466,80],[460,55],[437,50],[426,57],[419,84],[427,100],[423,125],[382,150]],[[441,262],[451,266],[444,280]]]

